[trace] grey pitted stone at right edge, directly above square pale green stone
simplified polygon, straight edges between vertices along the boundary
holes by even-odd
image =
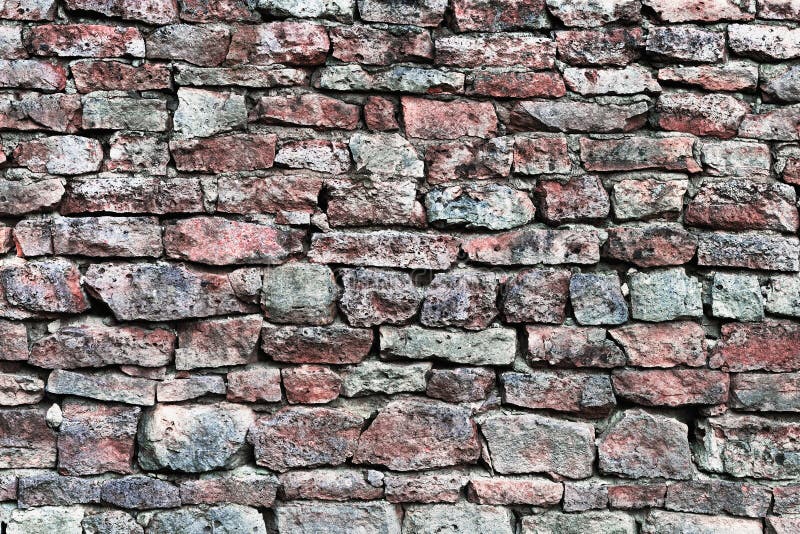
[[[798,271],[796,237],[744,232],[707,232],[699,235],[697,264],[770,271]]]

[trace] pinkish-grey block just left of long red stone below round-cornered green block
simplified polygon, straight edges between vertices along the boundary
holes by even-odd
[[[254,359],[262,318],[245,315],[184,323],[178,328],[175,368],[241,365]]]

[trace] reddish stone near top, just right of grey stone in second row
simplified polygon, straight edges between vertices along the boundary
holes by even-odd
[[[329,47],[328,33],[319,24],[279,21],[241,25],[231,38],[227,61],[248,65],[319,65],[325,62]]]

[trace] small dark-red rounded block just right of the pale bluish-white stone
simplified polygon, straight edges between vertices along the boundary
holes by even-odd
[[[540,180],[535,194],[539,213],[554,224],[602,219],[611,211],[608,193],[596,176]]]

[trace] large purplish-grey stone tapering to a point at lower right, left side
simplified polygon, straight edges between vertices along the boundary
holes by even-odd
[[[86,284],[120,320],[163,321],[246,313],[229,277],[165,262],[93,264]]]

